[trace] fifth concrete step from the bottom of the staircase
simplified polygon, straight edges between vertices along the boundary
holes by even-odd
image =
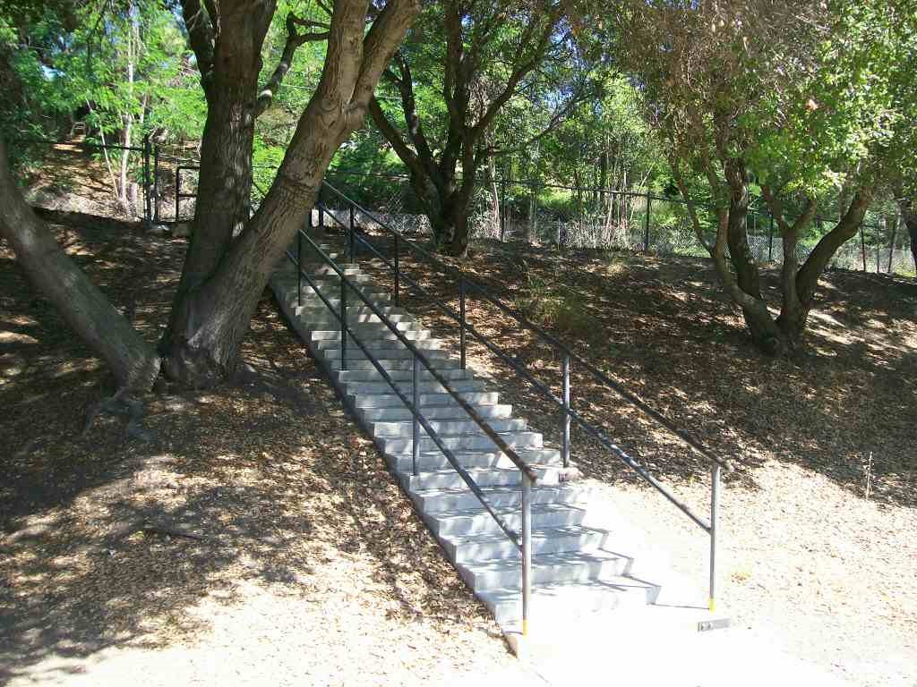
[[[522,487],[514,486],[482,486],[487,503],[495,508],[522,507]],[[576,483],[536,486],[532,489],[532,505],[537,504],[564,504],[576,505],[584,503],[589,497],[589,489]],[[421,489],[411,492],[414,503],[425,513],[443,513],[447,511],[467,510],[477,507],[481,501],[467,485],[448,489]]]

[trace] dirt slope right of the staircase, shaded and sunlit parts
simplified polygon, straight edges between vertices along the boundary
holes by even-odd
[[[374,241],[392,255],[381,236]],[[361,263],[392,283],[378,259]],[[400,266],[403,305],[458,342],[455,320],[434,305],[458,312],[458,278],[405,252]],[[750,345],[701,260],[479,242],[464,268],[734,464],[717,596],[738,627],[773,635],[854,684],[917,684],[917,283],[829,272],[801,351],[772,360]],[[776,268],[763,279],[779,303]],[[471,327],[559,396],[561,354],[466,293]],[[558,446],[557,406],[472,334],[468,351],[469,364]],[[571,377],[573,408],[705,516],[706,464],[575,363]],[[586,477],[703,589],[702,530],[576,425],[572,435]]]

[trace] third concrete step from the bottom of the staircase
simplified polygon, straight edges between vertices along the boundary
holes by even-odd
[[[597,551],[609,537],[611,533],[604,529],[580,525],[535,529],[532,531],[532,554]],[[452,562],[515,561],[518,565],[519,548],[503,531],[472,537],[444,537],[441,542]]]

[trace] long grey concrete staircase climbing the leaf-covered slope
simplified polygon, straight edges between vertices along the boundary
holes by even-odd
[[[337,260],[330,245],[322,245],[322,249]],[[655,603],[660,588],[631,577],[633,559],[607,548],[610,533],[584,524],[590,495],[586,488],[568,479],[573,473],[562,466],[560,452],[545,447],[539,432],[529,428],[525,420],[515,418],[513,407],[501,403],[500,394],[484,380],[462,370],[458,357],[443,350],[443,342],[431,336],[410,313],[393,307],[390,295],[374,286],[359,266],[338,265],[503,441],[536,469],[539,482],[532,491],[532,616],[543,622],[558,615],[569,617]],[[334,271],[315,262],[304,265],[304,269],[332,306],[339,308],[340,281]],[[325,366],[332,383],[385,456],[462,579],[491,609],[498,623],[512,631],[522,615],[519,551],[514,543],[423,429],[418,474],[413,474],[410,411],[352,341],[348,341],[346,369],[341,369],[337,318],[305,280],[301,297],[297,298],[296,273],[289,261],[275,273],[271,287],[293,327],[315,359]],[[348,324],[410,398],[411,352],[356,294],[348,293],[347,300]],[[424,369],[421,378],[420,404],[425,417],[492,507],[510,527],[520,529],[522,492],[518,469],[429,372]]]

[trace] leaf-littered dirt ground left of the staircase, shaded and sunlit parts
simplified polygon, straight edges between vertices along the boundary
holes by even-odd
[[[61,243],[155,341],[184,242],[65,219]],[[153,439],[128,442],[119,418],[83,435],[111,378],[5,244],[0,266],[0,683],[518,670],[267,292],[238,379],[150,398]]]

